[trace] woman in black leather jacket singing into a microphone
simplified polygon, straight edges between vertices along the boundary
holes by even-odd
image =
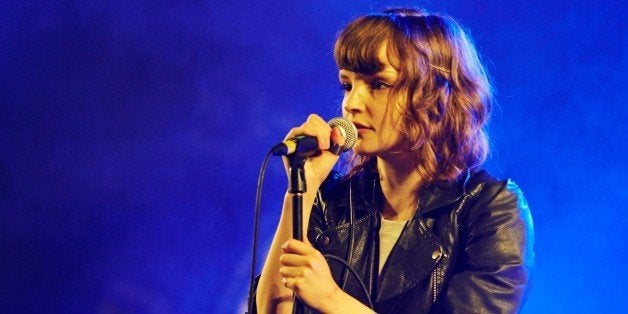
[[[451,18],[387,10],[351,22],[334,57],[343,115],[358,129],[351,167],[332,172],[342,137],[310,115],[287,138],[318,139],[308,158],[305,242],[291,238],[291,198],[257,288],[260,313],[510,313],[533,265],[532,221],[510,180],[478,168],[491,86]],[[359,275],[365,288],[342,263]],[[374,308],[369,308],[369,303]]]

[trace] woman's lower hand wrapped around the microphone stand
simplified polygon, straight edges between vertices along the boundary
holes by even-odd
[[[331,300],[342,292],[336,284],[323,254],[299,240],[288,240],[279,258],[284,286],[291,289],[307,305],[326,312]]]

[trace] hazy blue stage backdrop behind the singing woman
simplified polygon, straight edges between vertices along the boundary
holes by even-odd
[[[242,313],[264,154],[338,115],[337,31],[402,4],[460,20],[493,76],[524,312],[627,312],[628,12],[598,0],[2,1],[0,312]],[[262,255],[285,188],[273,160]]]

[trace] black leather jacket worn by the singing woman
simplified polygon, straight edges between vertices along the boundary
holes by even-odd
[[[378,276],[382,199],[378,181],[377,174],[362,173],[348,180],[332,173],[319,192],[308,228],[308,238],[318,250],[348,261],[357,271],[375,311],[520,309],[534,264],[534,241],[530,211],[515,183],[480,171],[449,186],[424,188],[414,218]],[[342,284],[346,278],[344,290],[368,304],[355,277],[345,275],[337,261],[330,260],[329,265],[336,282]]]

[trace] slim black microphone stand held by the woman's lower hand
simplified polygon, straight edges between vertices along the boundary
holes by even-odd
[[[303,241],[303,193],[307,191],[305,184],[305,159],[307,156],[294,154],[288,156],[290,162],[290,186],[289,193],[292,194],[292,237]],[[294,296],[292,313],[305,314],[306,306],[299,298]]]

